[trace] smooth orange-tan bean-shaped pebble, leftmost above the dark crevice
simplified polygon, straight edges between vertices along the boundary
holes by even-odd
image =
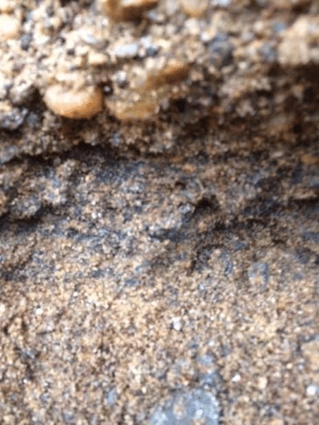
[[[66,118],[89,119],[102,110],[102,91],[94,87],[65,89],[63,85],[52,85],[44,96],[45,104],[52,112]]]

